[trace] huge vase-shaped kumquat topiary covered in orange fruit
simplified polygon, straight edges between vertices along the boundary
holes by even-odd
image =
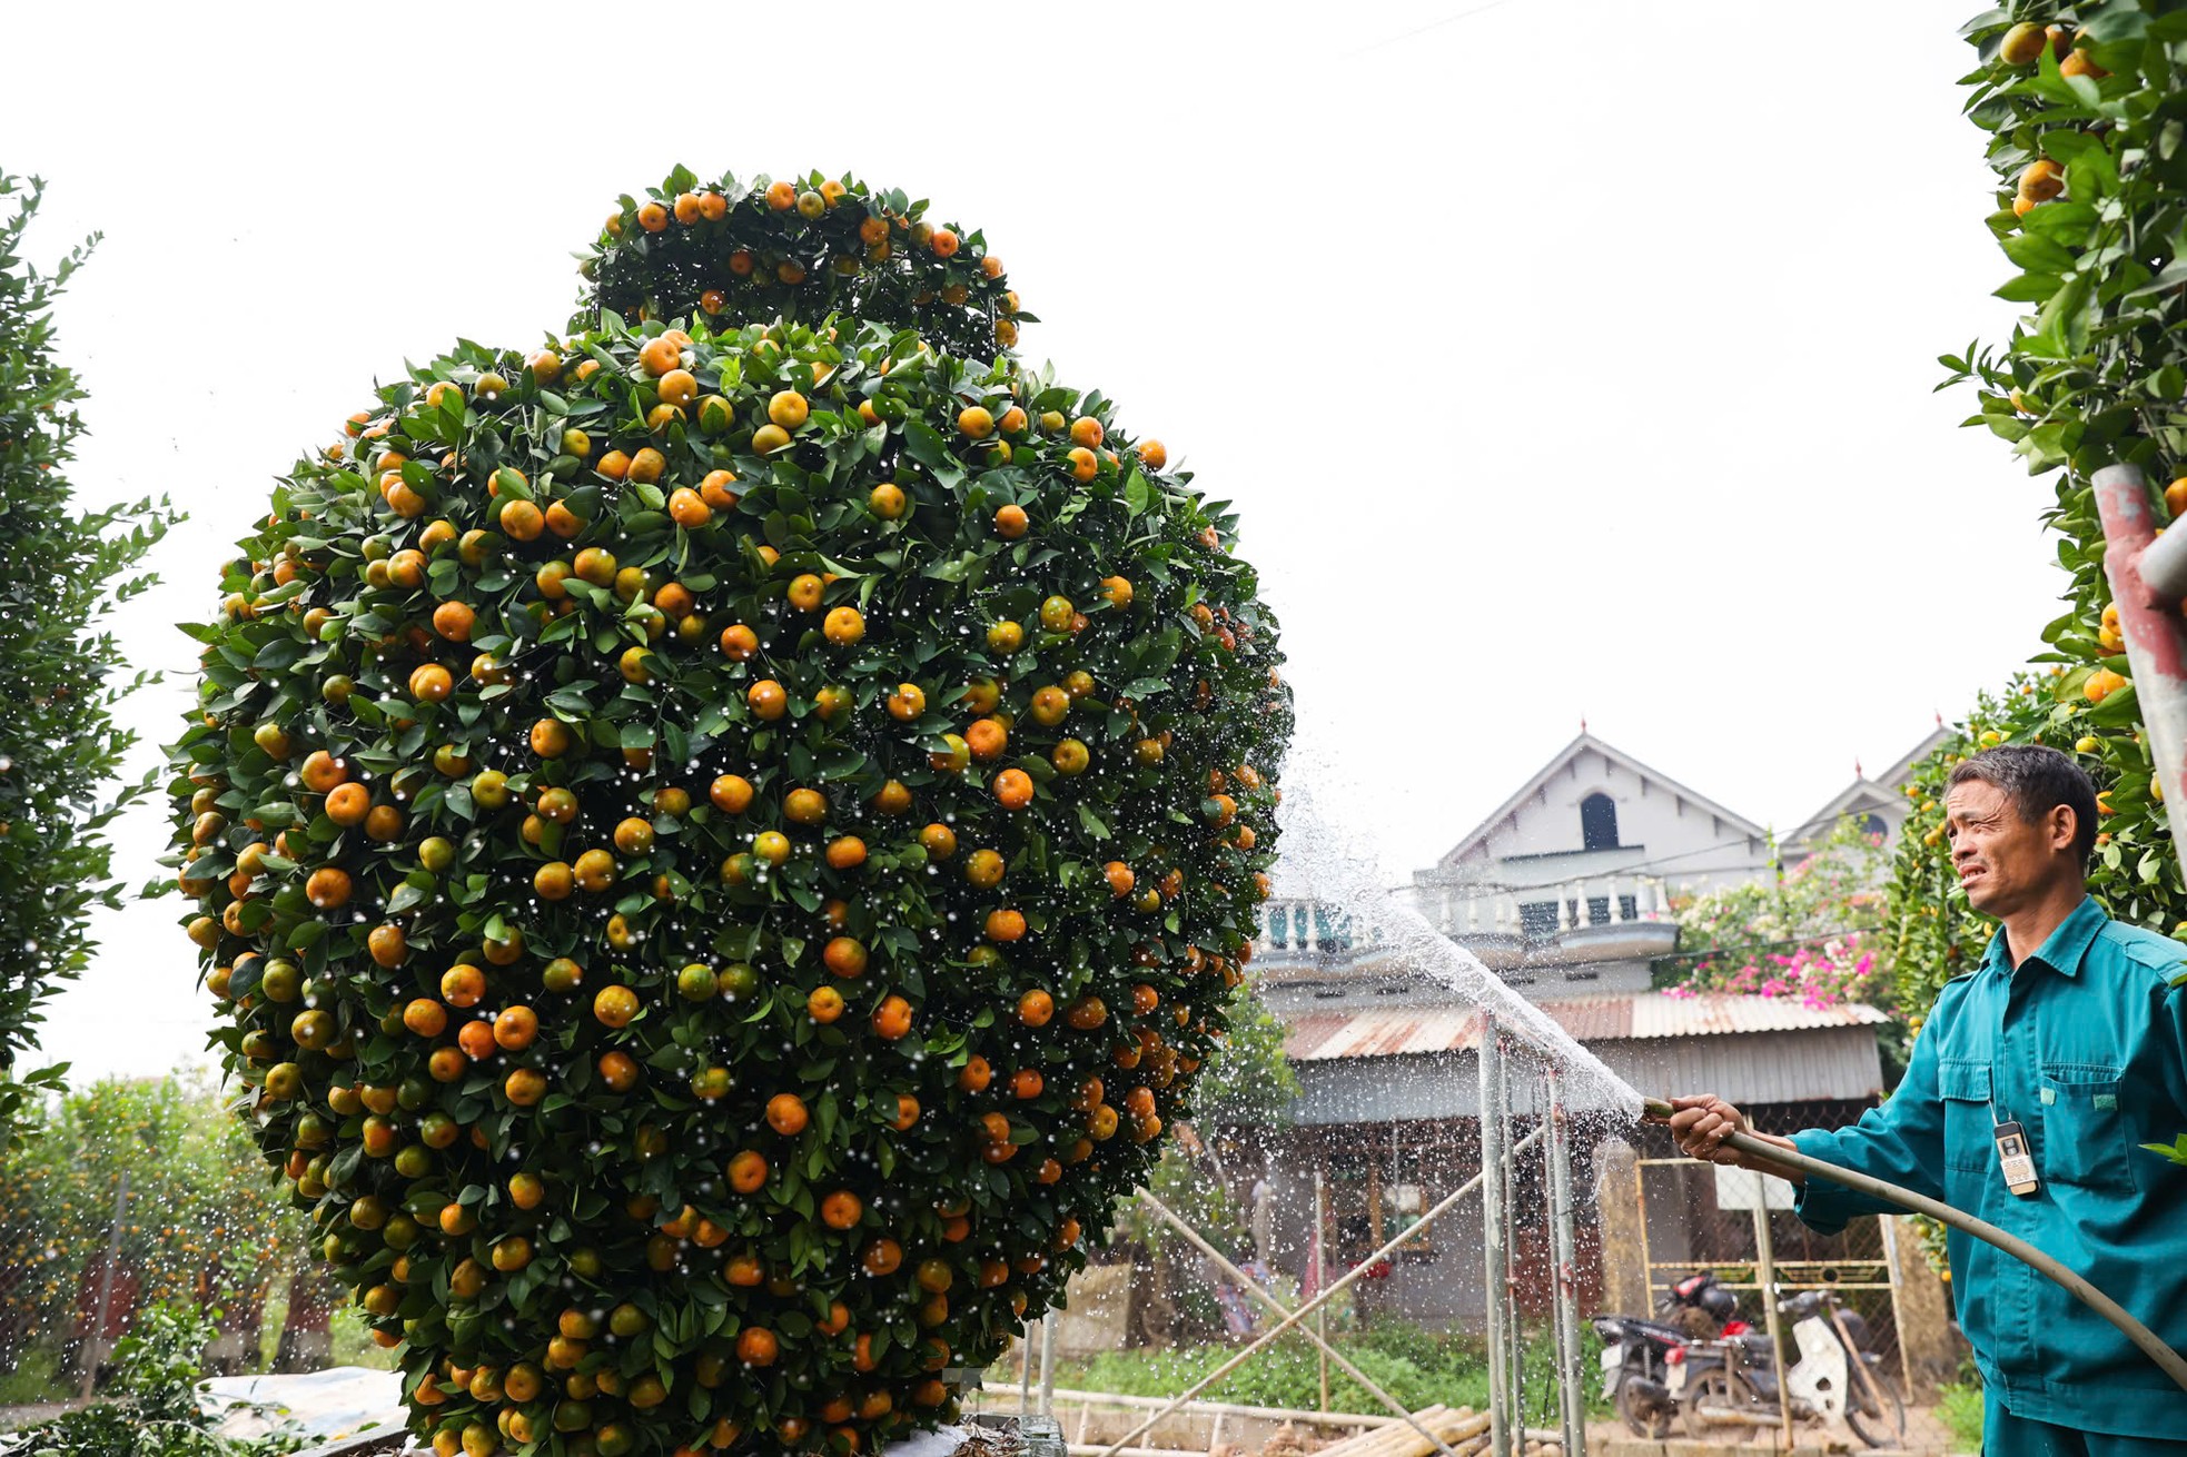
[[[1290,728],[1231,518],[855,182],[625,197],[297,462],[173,748],[252,1118],[444,1450],[859,1450],[1102,1238]]]

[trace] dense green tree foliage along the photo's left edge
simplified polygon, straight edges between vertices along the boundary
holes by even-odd
[[[136,735],[114,724],[125,658],[96,626],[151,584],[129,575],[175,521],[166,503],[85,512],[68,464],[83,387],[55,359],[52,304],[90,243],[39,273],[22,256],[44,184],[0,173],[0,1146],[59,1065],[17,1076],[39,1004],[90,960],[94,906],[120,906],[105,827],[151,779],[109,790]]]

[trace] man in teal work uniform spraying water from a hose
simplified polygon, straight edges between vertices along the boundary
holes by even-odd
[[[1890,1100],[1835,1133],[1761,1138],[2001,1225],[2187,1348],[2187,1168],[2143,1149],[2187,1131],[2187,945],[2086,895],[2095,790],[2067,755],[1973,755],[1951,770],[1944,812],[1968,904],[2001,923],[1988,954],[1938,995]],[[1671,1107],[1680,1149],[1789,1179],[1824,1234],[1890,1212],[1723,1149],[1752,1129],[1721,1098]],[[2010,1124],[2032,1166],[1999,1159],[2019,1151]],[[1960,1232],[1949,1254],[1988,1457],[2187,1457],[2187,1391],[2108,1321]]]

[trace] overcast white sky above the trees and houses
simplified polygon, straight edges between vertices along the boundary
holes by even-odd
[[[558,328],[571,249],[674,162],[820,166],[984,228],[1045,319],[1021,350],[1238,501],[1387,866],[1581,715],[1791,827],[2025,661],[2062,578],[2045,488],[1931,394],[2010,322],[1970,7],[1677,9],[22,9],[33,256],[105,232],[61,311],[77,486],[192,514],[118,617],[182,669],[129,720],[173,737],[168,623],[374,378]],[[122,827],[131,888],[164,834]],[[103,919],[48,1057],[197,1054],[179,912]]]

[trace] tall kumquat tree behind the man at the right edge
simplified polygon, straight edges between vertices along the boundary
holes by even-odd
[[[1957,893],[1944,777],[2001,742],[2049,744],[2095,779],[2089,890],[2113,917],[2187,934],[2187,879],[2165,820],[2091,477],[2135,464],[2156,521],[2187,516],[2187,7],[2172,0],[2012,4],[1964,26],[1979,66],[1966,114],[1997,171],[1990,232],[2032,308],[2003,346],[1944,357],[1984,424],[2051,477],[2067,610],[2038,667],[1984,696],[1907,783],[1914,814],[1887,904],[1898,991],[1918,1028],[1938,989],[1981,958],[1992,925]],[[2187,1135],[2170,1149],[2187,1162]]]

